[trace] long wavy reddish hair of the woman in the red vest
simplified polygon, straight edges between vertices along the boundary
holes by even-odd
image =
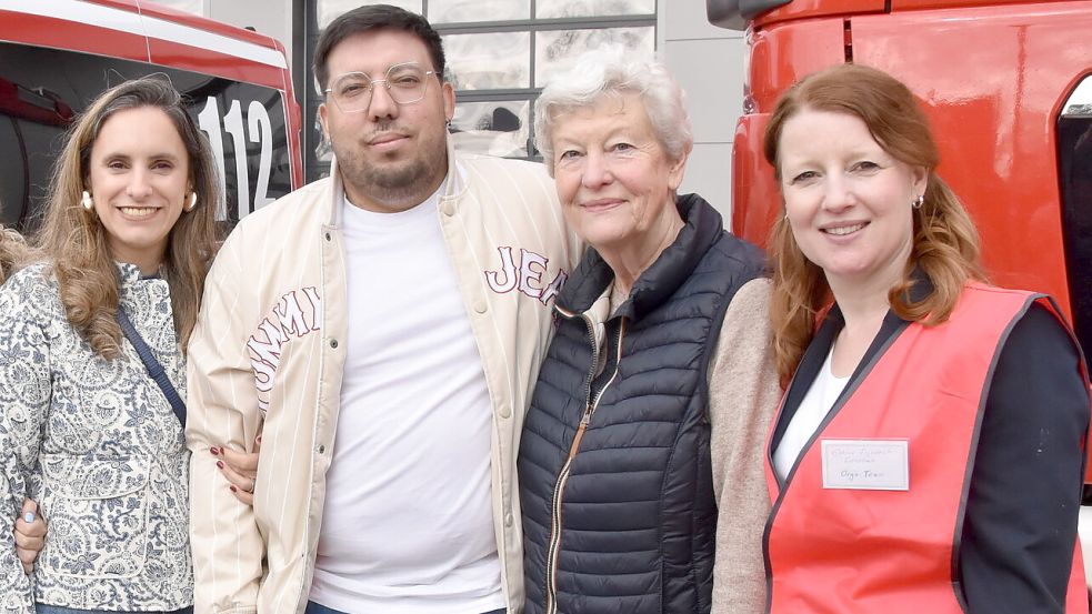
[[[839,64],[804,78],[782,94],[764,135],[763,153],[779,182],[781,131],[785,121],[803,110],[856,117],[890,155],[928,170],[924,202],[913,210],[911,254],[902,281],[888,292],[888,302],[908,321],[936,325],[948,320],[964,284],[984,281],[985,275],[978,231],[959,198],[936,175],[940,153],[913,93],[890,74],[856,64]],[[800,251],[784,218],[774,223],[769,245],[774,265],[770,306],[774,356],[781,383],[787,385],[815,333],[817,315],[832,295],[823,270]],[[914,269],[933,284],[933,292],[918,302],[908,292]]]

